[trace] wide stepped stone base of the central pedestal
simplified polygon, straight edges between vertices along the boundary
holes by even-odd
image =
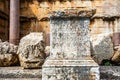
[[[42,80],[99,80],[99,67],[92,60],[47,60]]]

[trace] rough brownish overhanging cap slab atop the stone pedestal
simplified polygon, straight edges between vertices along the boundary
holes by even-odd
[[[79,10],[79,9],[65,9],[59,11],[53,11],[51,17],[92,17],[96,10]]]

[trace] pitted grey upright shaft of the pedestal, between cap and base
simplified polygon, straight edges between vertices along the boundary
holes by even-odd
[[[82,59],[85,56],[90,56],[89,18],[75,16],[70,16],[72,18],[61,18],[64,15],[59,18],[51,16],[50,48],[52,57],[56,59]]]

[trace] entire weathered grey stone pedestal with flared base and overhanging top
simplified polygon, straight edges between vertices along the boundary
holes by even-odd
[[[77,9],[51,13],[51,54],[42,66],[42,80],[99,80],[99,66],[90,52],[89,24],[94,13]]]

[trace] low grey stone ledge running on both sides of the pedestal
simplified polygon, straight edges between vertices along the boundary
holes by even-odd
[[[100,80],[120,80],[120,67],[100,66],[100,76]],[[0,80],[42,80],[42,70],[0,67]]]

